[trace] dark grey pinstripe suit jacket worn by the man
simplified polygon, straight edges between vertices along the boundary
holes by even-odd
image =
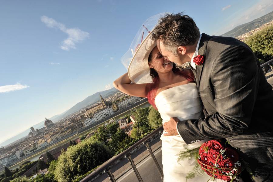
[[[186,143],[226,138],[234,147],[273,147],[273,91],[245,43],[202,34],[194,70],[206,118],[177,123]]]

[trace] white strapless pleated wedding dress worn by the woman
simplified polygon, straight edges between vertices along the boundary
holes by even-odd
[[[203,115],[203,106],[195,83],[175,86],[163,90],[155,97],[155,104],[163,123],[171,117],[179,120],[199,119]],[[166,133],[165,131],[163,134]],[[200,147],[206,140],[186,144],[181,136],[164,136],[162,134],[162,164],[164,182],[185,182],[186,176],[196,164],[196,160],[184,159],[177,162],[180,151]],[[188,179],[187,182],[205,182],[210,177],[207,174]],[[218,181],[218,179],[217,179]],[[219,180],[221,181],[221,180]]]

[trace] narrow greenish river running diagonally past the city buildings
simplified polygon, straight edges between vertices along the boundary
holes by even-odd
[[[121,113],[121,114],[119,114],[119,115],[113,117],[113,118],[110,118],[109,120],[112,120],[112,119],[117,120],[117,119],[119,119],[120,117],[123,117],[123,116],[125,116],[125,115],[127,115],[127,114],[130,114],[132,109],[144,108],[144,107],[148,107],[148,106],[150,106],[150,104],[149,104],[148,102],[142,103],[142,104],[140,104],[140,105],[138,105],[138,106],[136,106],[136,107],[131,108],[130,110],[127,110],[127,111],[125,111],[125,112],[123,112],[123,113]],[[96,125],[96,126],[94,126],[94,127],[92,127],[92,128],[89,128],[89,129],[86,130],[86,131],[83,131],[83,132],[81,132],[81,133],[75,134],[75,135],[73,135],[73,136],[71,136],[71,137],[69,137],[69,138],[67,138],[67,139],[65,139],[65,140],[60,141],[59,143],[56,143],[56,144],[51,145],[51,146],[49,146],[49,147],[46,147],[44,150],[42,150],[42,151],[40,151],[40,152],[38,152],[38,153],[35,153],[34,155],[32,155],[32,156],[30,156],[30,157],[28,157],[28,158],[26,158],[26,159],[20,161],[19,163],[16,163],[15,165],[13,165],[13,166],[11,166],[11,167],[8,167],[8,168],[9,168],[9,169],[16,169],[17,167],[19,167],[19,165],[20,165],[21,163],[23,163],[23,162],[25,162],[25,161],[28,161],[28,160],[29,160],[29,161],[39,160],[39,157],[40,157],[43,153],[45,153],[46,151],[53,150],[53,149],[55,149],[55,148],[57,148],[57,147],[59,147],[59,146],[65,144],[65,143],[69,142],[69,140],[77,139],[80,135],[87,134],[87,133],[89,133],[91,130],[94,131],[94,130],[96,130],[100,125],[103,125],[104,123],[108,122],[109,120],[106,120],[105,122],[100,123],[100,124],[98,124],[98,125]],[[0,173],[2,173],[2,172],[3,172],[3,171],[1,171]]]

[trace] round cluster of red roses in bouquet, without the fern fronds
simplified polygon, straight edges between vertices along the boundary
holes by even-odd
[[[241,173],[239,154],[231,147],[224,147],[217,140],[203,143],[197,155],[197,163],[212,180],[221,179],[231,182],[238,180]]]

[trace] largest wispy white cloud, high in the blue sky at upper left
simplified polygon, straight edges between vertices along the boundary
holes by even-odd
[[[59,29],[68,35],[68,38],[62,41],[61,49],[63,50],[69,51],[70,49],[76,49],[76,43],[83,41],[84,39],[89,37],[88,32],[84,32],[79,28],[66,28],[66,26],[62,23],[59,23],[56,20],[47,16],[42,16],[41,21],[45,23],[46,26]]]

